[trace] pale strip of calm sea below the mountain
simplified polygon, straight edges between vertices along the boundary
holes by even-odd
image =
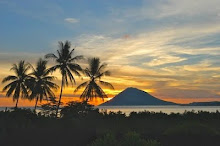
[[[0,107],[0,111],[5,110],[6,107]],[[30,108],[34,109],[33,107],[22,107],[22,108]],[[179,105],[172,105],[172,106],[95,106],[98,108],[99,111],[106,111],[106,112],[118,112],[121,111],[126,115],[129,115],[131,112],[163,112],[166,114],[171,113],[184,113],[186,111],[207,111],[207,112],[220,112],[220,106],[179,106]],[[7,109],[10,110],[10,107]],[[38,108],[40,111],[40,108]]]

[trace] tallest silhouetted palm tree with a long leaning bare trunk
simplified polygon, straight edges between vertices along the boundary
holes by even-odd
[[[65,43],[59,42],[59,49],[57,50],[57,55],[53,53],[45,55],[45,58],[55,59],[56,61],[56,65],[51,67],[49,71],[54,72],[58,69],[62,75],[60,97],[57,105],[56,116],[59,110],[63,88],[69,85],[69,81],[72,85],[73,83],[76,83],[72,73],[74,73],[77,76],[80,76],[79,71],[82,71],[80,65],[78,65],[75,61],[82,59],[83,57],[82,56],[73,57],[74,49],[71,50],[70,48],[71,48],[71,43],[69,41],[66,41]]]

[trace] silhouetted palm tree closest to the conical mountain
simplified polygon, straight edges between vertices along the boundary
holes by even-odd
[[[84,70],[84,73],[87,77],[89,77],[89,81],[80,84],[74,92],[77,92],[80,88],[85,87],[83,93],[80,96],[80,98],[83,98],[84,101],[88,102],[88,100],[92,100],[96,97],[100,97],[104,100],[104,98],[107,98],[107,95],[97,84],[97,82],[101,85],[114,89],[112,84],[101,80],[103,76],[110,75],[109,71],[105,71],[107,64],[101,64],[99,58],[91,58],[88,60],[88,63],[89,67]]]

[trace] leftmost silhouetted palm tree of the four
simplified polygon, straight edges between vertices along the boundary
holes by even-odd
[[[14,71],[15,75],[9,75],[2,80],[2,83],[11,81],[3,88],[3,92],[7,91],[7,97],[13,95],[13,101],[16,100],[15,108],[18,106],[18,100],[20,97],[28,97],[26,80],[29,78],[29,75],[27,74],[29,69],[29,64],[22,60],[18,64],[12,65],[11,70]]]

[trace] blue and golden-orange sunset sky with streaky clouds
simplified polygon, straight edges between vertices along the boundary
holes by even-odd
[[[35,64],[69,40],[75,55],[108,63],[109,97],[136,87],[178,103],[220,101],[219,0],[0,0],[0,18],[0,80],[13,63]],[[79,96],[75,87],[64,100]],[[0,106],[13,105],[0,93]]]

